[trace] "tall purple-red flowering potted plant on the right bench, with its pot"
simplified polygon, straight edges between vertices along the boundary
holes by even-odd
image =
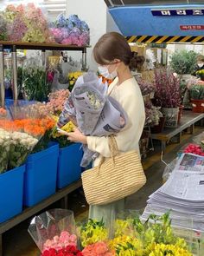
[[[180,81],[169,69],[155,71],[156,107],[161,107],[166,117],[165,127],[175,128],[178,124],[179,106],[181,105]]]

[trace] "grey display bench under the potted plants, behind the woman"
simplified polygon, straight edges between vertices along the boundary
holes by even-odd
[[[163,133],[151,134],[153,140],[161,141],[162,151],[164,152],[166,148],[166,143],[170,141],[171,138],[178,135],[178,143],[180,143],[182,138],[182,131],[186,128],[190,128],[190,133],[194,134],[194,124],[197,121],[204,119],[204,113],[193,113],[191,111],[183,111],[181,124],[177,128],[165,128]]]

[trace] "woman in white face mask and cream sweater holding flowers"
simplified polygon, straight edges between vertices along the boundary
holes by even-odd
[[[125,128],[116,135],[118,149],[121,152],[136,149],[139,153],[138,142],[143,132],[145,113],[143,96],[129,68],[133,56],[131,48],[124,36],[116,32],[107,33],[96,43],[93,56],[99,64],[101,75],[111,79],[117,76],[108,89],[108,95],[117,100],[128,115]],[[76,129],[68,135],[68,139],[87,144],[90,150],[99,153],[99,157],[93,163],[94,166],[99,165],[102,156],[105,158],[111,156],[107,137],[85,136]],[[106,226],[111,226],[115,214],[122,210],[124,210],[124,199],[108,205],[90,206],[89,218],[94,220],[103,218]]]

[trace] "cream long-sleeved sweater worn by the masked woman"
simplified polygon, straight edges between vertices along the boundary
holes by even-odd
[[[108,89],[108,95],[117,100],[128,115],[128,123],[125,128],[116,135],[118,149],[120,152],[127,152],[136,149],[139,153],[139,139],[143,132],[145,111],[143,96],[135,78],[128,79],[118,85],[116,78]],[[94,166],[99,164],[101,155],[105,158],[111,156],[107,137],[87,137],[88,148],[100,155],[94,161]]]

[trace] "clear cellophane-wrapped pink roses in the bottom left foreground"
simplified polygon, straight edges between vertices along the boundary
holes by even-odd
[[[72,211],[53,209],[41,213],[41,215],[35,216],[31,220],[28,231],[35,244],[41,250],[42,255],[49,255],[49,250],[54,250],[57,253],[61,249],[66,249],[67,246],[77,246],[76,228]]]

